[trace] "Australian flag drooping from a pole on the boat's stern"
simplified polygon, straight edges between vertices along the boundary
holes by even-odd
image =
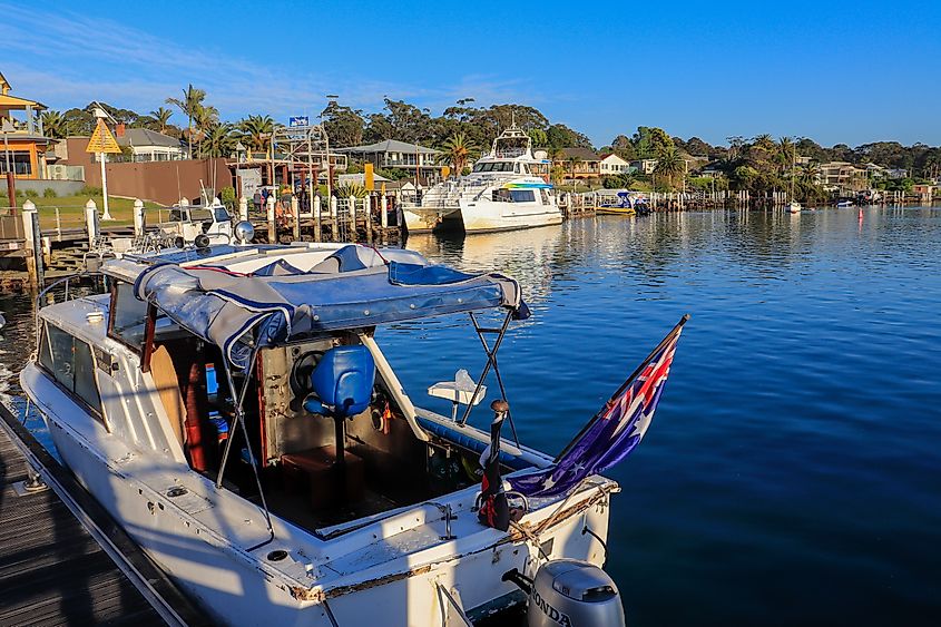
[[[527,497],[563,494],[586,477],[600,474],[626,458],[650,427],[676,343],[688,319],[683,316],[552,466],[532,474],[509,477],[513,489]]]

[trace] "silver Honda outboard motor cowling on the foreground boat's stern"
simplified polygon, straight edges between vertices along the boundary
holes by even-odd
[[[607,572],[578,559],[553,559],[536,574],[529,627],[624,627],[624,606]]]

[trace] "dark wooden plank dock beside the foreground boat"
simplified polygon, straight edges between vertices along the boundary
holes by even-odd
[[[49,487],[24,491],[27,463]],[[0,626],[102,623],[207,620],[0,406]]]

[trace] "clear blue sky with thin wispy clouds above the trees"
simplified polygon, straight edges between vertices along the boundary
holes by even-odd
[[[229,120],[473,97],[597,146],[638,125],[941,144],[941,2],[157,4],[0,0],[0,71],[57,109],[146,112],[193,82]]]

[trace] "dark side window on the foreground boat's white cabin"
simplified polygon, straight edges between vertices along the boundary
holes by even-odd
[[[101,396],[95,381],[91,346],[52,324],[46,325],[40,340],[39,365],[66,391],[71,392],[97,414]]]

